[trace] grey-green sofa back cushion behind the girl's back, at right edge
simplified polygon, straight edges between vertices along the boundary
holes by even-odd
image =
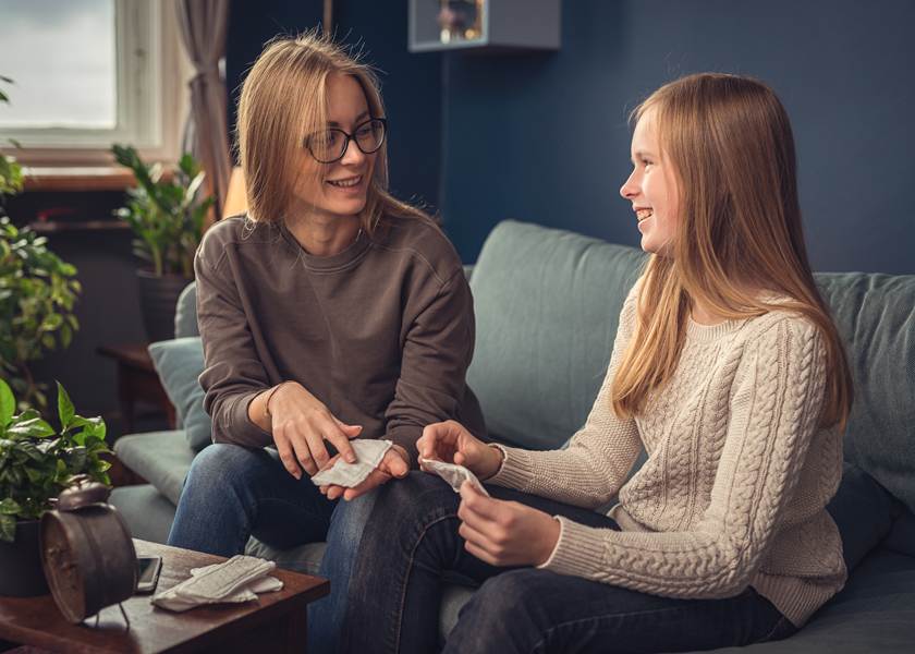
[[[845,460],[915,510],[915,276],[831,272],[817,280],[857,382]]]

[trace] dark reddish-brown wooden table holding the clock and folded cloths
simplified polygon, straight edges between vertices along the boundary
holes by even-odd
[[[134,540],[137,554],[162,557],[157,591],[191,577],[192,568],[224,561],[212,556]],[[326,579],[274,570],[283,582],[272,593],[243,604],[199,606],[173,613],[154,606],[150,595],[123,602],[126,629],[118,606],[80,625],[66,621],[51,595],[0,597],[0,639],[34,645],[57,654],[258,654],[305,652],[307,605],[330,593]]]

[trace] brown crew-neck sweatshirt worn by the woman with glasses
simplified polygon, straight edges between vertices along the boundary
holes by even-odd
[[[389,438],[416,468],[427,424],[485,435],[464,375],[474,352],[469,286],[441,230],[401,220],[373,241],[308,255],[282,225],[243,216],[210,228],[197,252],[200,385],[215,443],[265,447],[248,419],[264,389],[298,382],[362,438]]]

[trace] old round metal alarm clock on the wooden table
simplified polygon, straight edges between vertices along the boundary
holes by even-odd
[[[127,523],[105,502],[110,494],[105,484],[78,475],[41,518],[41,566],[54,602],[71,622],[136,592],[136,550]]]

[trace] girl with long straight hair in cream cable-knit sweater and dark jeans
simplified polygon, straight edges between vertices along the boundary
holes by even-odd
[[[483,583],[448,653],[745,645],[792,634],[842,588],[826,505],[854,387],[807,261],[784,108],[765,84],[703,74],[635,119],[621,193],[654,256],[587,424],[552,452],[426,427],[423,458],[492,497],[423,473],[383,488],[339,651],[431,651],[444,569]]]

